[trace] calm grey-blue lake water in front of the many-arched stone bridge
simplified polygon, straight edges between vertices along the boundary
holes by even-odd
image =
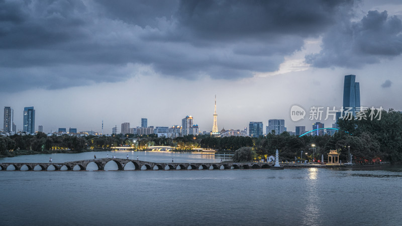
[[[0,222],[400,225],[402,167],[373,169],[0,171]]]

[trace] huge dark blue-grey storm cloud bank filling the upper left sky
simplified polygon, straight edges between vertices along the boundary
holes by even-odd
[[[57,89],[121,81],[138,65],[187,79],[251,77],[277,70],[305,38],[347,18],[352,6],[319,0],[0,0],[3,91],[16,84]]]

